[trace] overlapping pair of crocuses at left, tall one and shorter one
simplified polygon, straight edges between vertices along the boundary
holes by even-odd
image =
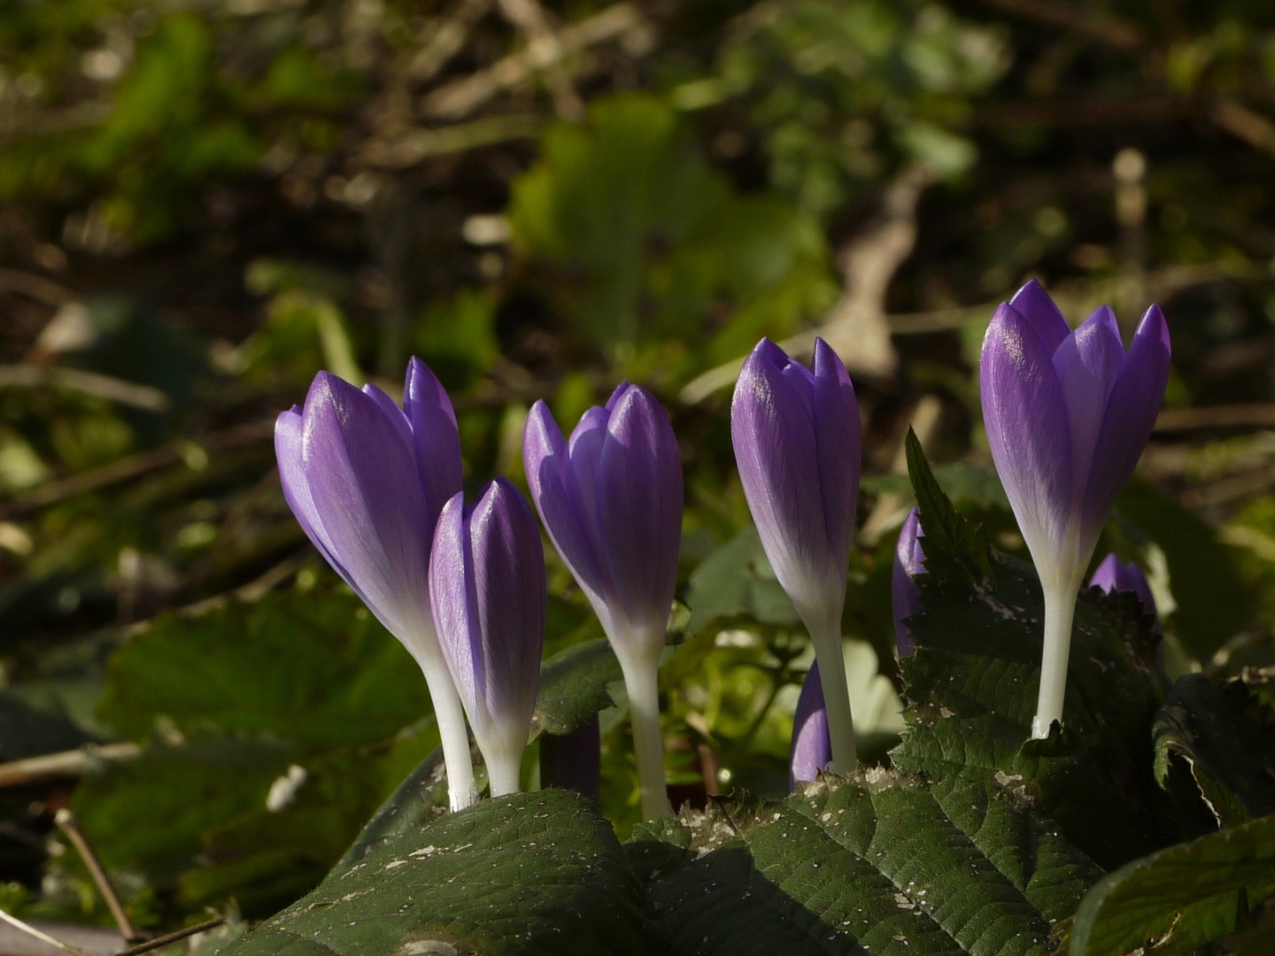
[[[306,535],[425,673],[451,808],[478,795],[465,713],[492,794],[516,790],[546,600],[539,530],[521,496],[497,479],[464,509],[455,413],[416,358],[403,408],[375,385],[320,372],[305,408],[279,416],[274,441]]]

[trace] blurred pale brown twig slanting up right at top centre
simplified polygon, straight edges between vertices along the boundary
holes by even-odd
[[[558,33],[557,46],[530,43],[484,70],[433,91],[425,97],[421,111],[433,119],[465,116],[501,91],[521,84],[532,73],[552,66],[567,54],[615,40],[641,23],[641,13],[632,4],[608,6],[599,14],[564,27]]]

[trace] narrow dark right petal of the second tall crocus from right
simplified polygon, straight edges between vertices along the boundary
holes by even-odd
[[[811,386],[824,523],[833,562],[844,574],[859,497],[859,405],[845,366],[822,339],[815,339]]]

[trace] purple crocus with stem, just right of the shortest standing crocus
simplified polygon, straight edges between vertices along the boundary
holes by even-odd
[[[672,813],[659,733],[659,655],[677,585],[682,464],[668,414],[623,384],[565,441],[537,402],[523,435],[532,500],[620,660],[646,818]]]

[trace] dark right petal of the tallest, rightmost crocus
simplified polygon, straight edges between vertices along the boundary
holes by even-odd
[[[1098,539],[1116,496],[1133,473],[1146,440],[1151,437],[1169,382],[1169,328],[1164,314],[1159,306],[1151,306],[1133,334],[1133,344],[1112,386],[1094,442],[1094,463],[1081,510],[1081,535],[1085,540]]]

